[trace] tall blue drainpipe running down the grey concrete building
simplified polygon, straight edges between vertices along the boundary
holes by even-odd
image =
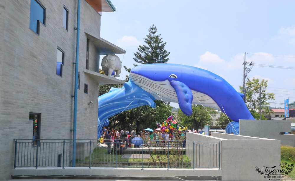
[[[75,92],[74,92],[74,122],[73,122],[73,167],[76,166],[76,126],[77,126],[77,91],[78,91],[78,60],[79,60],[79,35],[80,35],[80,0],[77,10],[77,44],[75,64]]]

